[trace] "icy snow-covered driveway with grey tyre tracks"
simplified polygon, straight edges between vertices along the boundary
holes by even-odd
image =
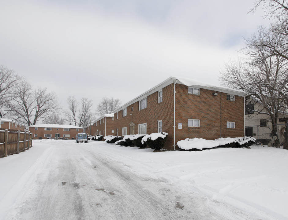
[[[16,182],[24,191],[15,195],[11,187],[5,195],[16,198],[9,210],[0,213],[5,220],[277,219],[213,200],[186,188],[185,182],[175,185],[146,169],[157,163],[139,157],[141,152],[151,156],[166,152],[66,140],[36,140],[29,151],[36,148],[42,149],[41,156],[21,175],[26,177],[22,185]]]

